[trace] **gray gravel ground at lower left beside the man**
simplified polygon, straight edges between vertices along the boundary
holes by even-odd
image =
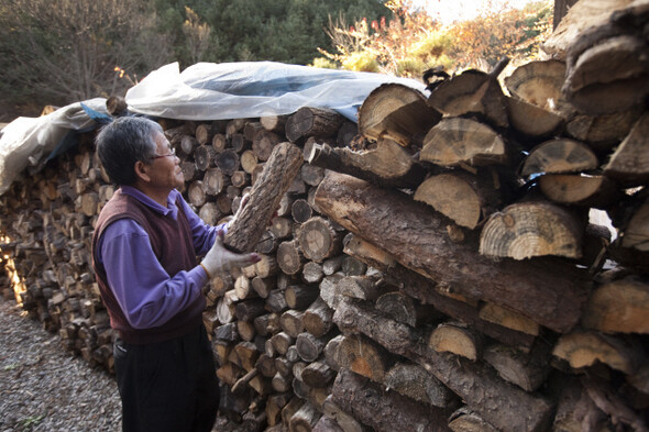
[[[0,431],[120,431],[113,376],[58,341],[0,299]]]

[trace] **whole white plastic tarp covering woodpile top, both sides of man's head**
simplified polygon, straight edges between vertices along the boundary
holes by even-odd
[[[224,120],[290,114],[301,107],[329,108],[352,121],[378,86],[396,82],[426,93],[417,80],[380,74],[320,69],[273,62],[198,63],[180,73],[172,63],[129,89],[129,112],[177,120]],[[96,128],[107,115],[95,98],[40,118],[18,118],[0,136],[0,195],[28,167],[44,163],[74,143],[75,132]]]

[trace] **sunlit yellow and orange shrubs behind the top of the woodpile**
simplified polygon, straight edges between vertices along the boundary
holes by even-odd
[[[501,3],[497,9],[480,11],[473,20],[446,25],[415,8],[411,0],[391,0],[386,5],[393,14],[389,21],[367,24],[360,20],[348,25],[342,16],[330,20],[327,34],[336,52],[319,49],[328,65],[402,77],[421,77],[425,70],[440,66],[448,71],[485,70],[504,56],[537,58],[540,42],[552,30],[551,0],[524,10]],[[327,63],[312,63],[320,64]]]

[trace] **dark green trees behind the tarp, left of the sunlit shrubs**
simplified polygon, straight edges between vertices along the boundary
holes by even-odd
[[[273,60],[306,65],[318,47],[331,48],[324,33],[329,15],[343,13],[353,19],[385,15],[389,11],[377,0],[156,0],[164,13],[164,26],[175,41],[175,58],[182,67],[196,63],[187,49],[187,38],[177,11],[187,5],[210,29],[208,48],[198,60]],[[169,11],[174,11],[170,13]]]

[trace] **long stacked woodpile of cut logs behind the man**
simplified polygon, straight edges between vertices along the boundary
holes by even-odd
[[[636,37],[615,22],[587,37]],[[358,125],[317,108],[160,119],[210,224],[279,143],[304,155],[263,259],[206,287],[222,414],[242,431],[648,430],[649,89],[625,86],[649,69],[605,81],[581,54],[429,77],[429,97],[385,85]],[[87,133],[0,198],[6,296],[109,370],[89,242],[113,191]]]

